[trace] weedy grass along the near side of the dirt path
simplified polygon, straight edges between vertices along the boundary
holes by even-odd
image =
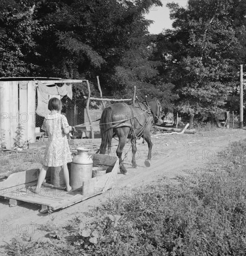
[[[245,256],[246,141],[224,155],[76,216],[52,245],[13,240],[9,255]]]

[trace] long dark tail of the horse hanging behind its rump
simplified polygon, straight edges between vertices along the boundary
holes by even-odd
[[[113,137],[113,128],[112,128],[112,122],[113,122],[113,113],[112,108],[108,107],[105,108],[102,112],[101,116],[101,126],[103,126],[104,133],[102,135],[102,141],[100,145],[100,154],[106,153],[106,147],[108,147],[108,150],[111,148],[111,141]]]

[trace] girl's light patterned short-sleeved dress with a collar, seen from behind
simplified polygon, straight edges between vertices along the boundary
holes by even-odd
[[[44,155],[43,165],[57,167],[72,162],[70,148],[63,128],[68,127],[65,115],[56,113],[47,115],[41,127],[47,131],[49,137]]]

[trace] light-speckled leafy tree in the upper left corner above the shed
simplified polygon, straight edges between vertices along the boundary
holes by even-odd
[[[34,72],[32,63],[39,32],[33,20],[34,1],[0,2],[0,76],[27,76]]]

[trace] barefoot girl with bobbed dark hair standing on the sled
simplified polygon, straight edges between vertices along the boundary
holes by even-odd
[[[59,99],[51,98],[49,100],[48,109],[51,113],[50,115],[47,115],[41,127],[49,137],[45,150],[43,166],[38,178],[38,184],[36,189],[33,190],[36,194],[40,191],[49,167],[60,166],[63,170],[66,191],[70,191],[72,189],[69,184],[69,173],[67,168],[67,163],[72,162],[72,157],[66,139],[66,134],[68,134],[72,128],[68,125],[66,116],[60,114],[61,108],[62,105]]]

